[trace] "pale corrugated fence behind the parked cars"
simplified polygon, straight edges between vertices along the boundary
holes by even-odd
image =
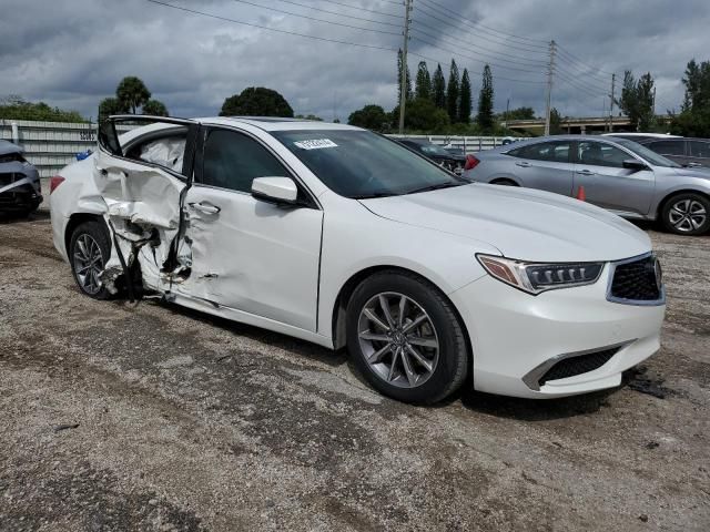
[[[129,126],[122,126],[128,131]],[[395,135],[393,135],[395,136]],[[408,139],[426,139],[443,146],[460,147],[466,153],[490,150],[503,144],[504,137],[452,136],[452,135],[403,135]],[[64,122],[34,122],[4,120],[0,117],[0,139],[19,144],[27,160],[40,172],[41,177],[51,177],[62,167],[77,160],[77,154],[95,151],[97,124],[72,124]]]

